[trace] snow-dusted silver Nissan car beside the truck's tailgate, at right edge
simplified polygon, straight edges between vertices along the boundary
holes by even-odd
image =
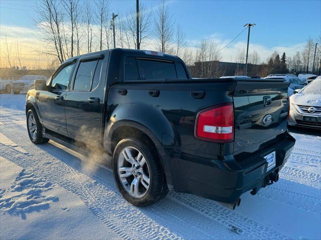
[[[290,96],[289,125],[321,129],[321,79]]]

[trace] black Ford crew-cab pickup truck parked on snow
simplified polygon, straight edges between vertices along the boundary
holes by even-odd
[[[228,203],[278,180],[295,139],[283,79],[192,78],[177,56],[72,57],[27,94],[31,141],[112,156],[119,191],[145,206],[169,188]],[[105,154],[104,154],[105,155]]]

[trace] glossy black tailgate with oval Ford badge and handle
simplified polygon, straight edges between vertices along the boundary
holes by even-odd
[[[233,94],[235,108],[234,153],[252,152],[286,131],[287,82],[238,81]]]

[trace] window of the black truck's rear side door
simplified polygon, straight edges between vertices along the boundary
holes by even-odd
[[[80,62],[75,77],[74,90],[90,90],[91,80],[93,79],[97,62],[98,60]]]

